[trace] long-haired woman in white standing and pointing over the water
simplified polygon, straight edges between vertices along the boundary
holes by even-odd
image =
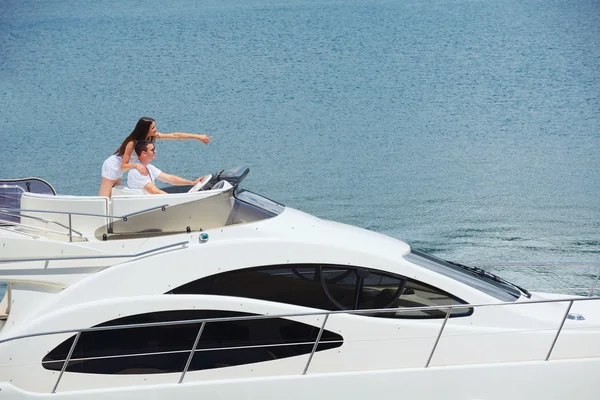
[[[138,140],[184,140],[197,139],[202,143],[210,143],[213,136],[197,135],[192,133],[173,132],[160,133],[156,131],[156,122],[152,118],[140,118],[133,132],[121,143],[121,147],[108,157],[102,164],[102,183],[100,184],[99,196],[110,197],[112,188],[121,183],[123,172],[136,168],[142,175],[148,175],[148,170],[142,164],[137,163],[137,155],[133,151],[135,142]]]

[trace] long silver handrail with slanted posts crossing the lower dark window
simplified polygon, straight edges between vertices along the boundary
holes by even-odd
[[[54,387],[52,389],[52,393],[56,393],[56,389],[58,387],[58,384],[60,383],[60,380],[65,372],[65,370],[67,369],[67,366],[69,364],[69,362],[72,360],[71,356],[75,350],[75,346],[77,345],[78,339],[81,337],[82,333],[85,332],[93,332],[93,331],[106,331],[106,330],[116,330],[116,329],[134,329],[134,328],[142,328],[142,327],[155,327],[155,326],[174,326],[174,325],[184,325],[184,324],[193,324],[193,323],[201,323],[200,329],[198,330],[198,334],[196,335],[196,339],[194,341],[194,345],[192,346],[192,349],[189,350],[190,351],[190,355],[188,356],[188,359],[186,361],[186,365],[182,371],[182,374],[179,378],[179,382],[178,383],[182,383],[183,379],[185,377],[185,374],[187,372],[187,370],[189,369],[189,366],[191,364],[192,358],[194,356],[194,354],[196,353],[196,351],[198,351],[196,348],[198,346],[198,342],[200,341],[200,337],[202,335],[202,332],[204,331],[204,328],[206,326],[207,323],[214,323],[214,322],[228,322],[228,321],[248,321],[248,320],[258,320],[258,319],[274,319],[274,318],[289,318],[289,317],[301,317],[301,316],[318,316],[318,315],[324,315],[325,318],[323,320],[323,324],[320,327],[319,333],[314,341],[313,344],[313,349],[312,352],[308,358],[308,361],[304,367],[304,370],[302,372],[302,375],[305,375],[306,372],[308,371],[308,368],[310,366],[310,363],[312,361],[313,355],[315,354],[320,340],[321,340],[321,336],[323,331],[325,330],[325,325],[327,323],[327,320],[329,318],[330,315],[337,315],[337,314],[359,314],[359,315],[370,315],[370,314],[377,314],[377,313],[382,313],[382,312],[400,312],[400,313],[404,313],[404,312],[414,312],[414,311],[427,311],[427,310],[446,310],[446,316],[444,318],[444,321],[440,327],[440,330],[437,334],[435,343],[432,347],[432,350],[430,352],[429,358],[427,359],[426,364],[424,365],[424,368],[428,368],[429,364],[431,362],[431,359],[433,358],[433,355],[435,353],[435,350],[437,349],[437,345],[440,341],[440,338],[442,337],[442,334],[444,332],[444,328],[446,327],[446,323],[448,321],[448,318],[450,317],[452,311],[454,309],[464,309],[464,308],[479,308],[479,307],[498,307],[498,306],[510,306],[510,305],[523,305],[523,304],[543,304],[543,303],[559,303],[559,302],[569,302],[569,306],[567,307],[567,310],[565,311],[565,314],[561,320],[560,326],[557,329],[556,335],[554,336],[554,340],[552,341],[552,344],[550,346],[550,349],[546,355],[545,361],[548,361],[550,359],[550,356],[552,354],[552,350],[554,349],[554,346],[558,340],[558,337],[560,336],[560,333],[562,332],[563,326],[565,324],[565,321],[569,315],[569,312],[571,310],[571,307],[573,305],[574,302],[579,302],[579,301],[598,301],[600,300],[600,298],[590,298],[590,297],[577,297],[577,298],[563,298],[563,299],[550,299],[550,300],[534,300],[534,301],[522,301],[522,302],[512,302],[512,303],[482,303],[482,304],[460,304],[460,305],[452,305],[452,306],[428,306],[428,307],[399,307],[399,308],[385,308],[385,309],[374,309],[374,310],[338,310],[338,311],[320,311],[320,312],[307,312],[307,313],[290,313],[290,314],[275,314],[275,315],[254,315],[254,316],[242,316],[242,317],[222,317],[222,318],[202,318],[202,319],[192,319],[192,320],[182,320],[182,321],[164,321],[164,322],[150,322],[150,323],[140,323],[140,324],[131,324],[131,325],[113,325],[113,326],[102,326],[102,327],[93,327],[93,328],[84,328],[84,329],[68,329],[68,330],[61,330],[61,331],[48,331],[48,332],[40,332],[40,333],[34,333],[34,334],[28,334],[28,335],[20,335],[20,336],[15,336],[12,338],[6,338],[6,339],[2,339],[0,340],[0,344],[2,343],[6,343],[9,341],[14,341],[14,340],[18,340],[18,339],[24,339],[24,338],[31,338],[31,337],[37,337],[37,336],[47,336],[47,335],[56,335],[56,334],[63,334],[63,333],[75,333],[76,332],[76,336],[75,336],[75,340],[73,341],[73,344],[71,345],[70,349],[69,349],[69,353],[67,354],[67,357],[65,358],[65,360],[63,361],[63,365],[60,371],[60,374],[58,375],[58,378],[54,384]],[[288,344],[289,345],[289,344]],[[247,348],[248,346],[238,346],[237,348]],[[257,347],[257,346],[254,346]],[[260,347],[264,347],[264,345],[261,345]],[[228,349],[232,349],[232,348],[228,348]],[[210,349],[210,350],[214,350],[214,349]],[[177,351],[177,353],[182,353],[184,351]],[[171,354],[171,353],[175,353],[175,352],[162,352],[161,354]],[[147,355],[147,354],[146,354]],[[130,356],[128,354],[124,354],[122,357],[125,356]],[[115,356],[116,357],[116,356]],[[106,357],[93,357],[93,358],[87,358],[90,360],[95,360],[95,359],[100,359],[100,358],[106,358]],[[79,359],[76,359],[79,361]],[[57,361],[61,361],[61,360],[57,360]],[[56,362],[56,361],[53,361]]]

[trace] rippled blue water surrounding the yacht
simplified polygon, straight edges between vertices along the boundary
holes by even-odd
[[[152,116],[215,136],[159,142],[170,173],[245,165],[459,262],[600,262],[599,71],[598,0],[3,0],[0,176],[96,194]]]

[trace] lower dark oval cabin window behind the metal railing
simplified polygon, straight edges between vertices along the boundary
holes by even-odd
[[[162,311],[123,317],[96,326],[251,315],[254,314],[217,310]],[[66,371],[88,374],[182,372],[200,325],[196,322],[84,332],[77,341]],[[188,371],[310,354],[319,330],[319,327],[283,318],[209,322],[204,327]],[[43,367],[60,371],[74,338],[75,335],[50,351],[42,360]],[[342,343],[340,335],[324,330],[317,351],[339,347]]]

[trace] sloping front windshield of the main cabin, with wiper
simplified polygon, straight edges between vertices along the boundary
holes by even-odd
[[[404,259],[420,267],[427,268],[465,285],[469,285],[501,301],[515,301],[521,297],[521,294],[527,297],[530,296],[527,290],[481,268],[468,267],[445,261],[414,249],[404,256]]]

